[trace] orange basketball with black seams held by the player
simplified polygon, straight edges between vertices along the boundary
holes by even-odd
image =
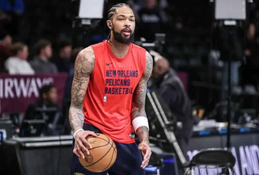
[[[92,145],[89,155],[85,152],[85,158],[79,157],[82,166],[91,172],[102,172],[109,169],[115,162],[117,157],[117,149],[113,140],[100,133],[96,133],[96,137],[88,136],[86,140]]]

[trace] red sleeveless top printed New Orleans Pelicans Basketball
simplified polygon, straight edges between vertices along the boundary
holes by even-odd
[[[132,95],[145,70],[146,50],[130,43],[127,55],[117,58],[107,41],[91,47],[95,64],[83,101],[84,123],[116,142],[134,143]]]

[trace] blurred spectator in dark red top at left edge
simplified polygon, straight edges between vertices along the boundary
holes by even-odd
[[[12,36],[6,31],[0,31],[0,72],[6,72],[4,69],[5,60],[12,56],[12,53],[8,50],[8,47],[12,45]]]

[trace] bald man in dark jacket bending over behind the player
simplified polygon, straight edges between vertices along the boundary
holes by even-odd
[[[193,131],[193,117],[191,101],[184,90],[182,81],[176,72],[170,68],[168,60],[161,56],[154,58],[152,79],[150,81],[152,82],[149,82],[149,89],[151,89],[150,87],[155,88],[158,95],[162,97],[176,116],[177,121],[182,122],[182,128],[177,132],[176,138],[187,158],[187,145]],[[180,170],[179,174],[182,174]]]

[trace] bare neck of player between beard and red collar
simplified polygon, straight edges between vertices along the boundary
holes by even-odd
[[[123,58],[127,55],[129,51],[129,45],[121,44],[116,41],[113,37],[111,37],[111,42],[109,42],[111,52],[115,57]]]

